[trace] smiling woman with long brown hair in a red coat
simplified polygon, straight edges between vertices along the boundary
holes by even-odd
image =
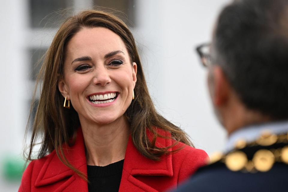
[[[39,136],[41,149],[19,191],[164,191],[205,164],[206,153],[156,112],[134,38],[113,14],[68,18],[38,82],[27,159]]]

